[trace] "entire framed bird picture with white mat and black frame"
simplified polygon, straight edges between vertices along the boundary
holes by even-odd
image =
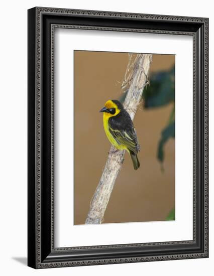
[[[28,265],[208,257],[208,19],[28,10]]]

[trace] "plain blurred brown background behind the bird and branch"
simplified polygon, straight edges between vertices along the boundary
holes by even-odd
[[[153,55],[150,72],[171,68],[173,55]],[[74,224],[84,224],[89,203],[105,165],[110,142],[99,110],[119,99],[128,63],[127,53],[74,52]],[[117,178],[103,223],[165,220],[175,203],[175,145],[165,145],[164,172],[157,146],[172,106],[138,109],[134,118],[141,151],[135,171],[128,153]]]

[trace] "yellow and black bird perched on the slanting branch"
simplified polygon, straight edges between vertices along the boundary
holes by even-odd
[[[99,112],[103,112],[103,126],[109,141],[116,149],[126,150],[130,154],[134,169],[137,170],[140,167],[137,157],[140,146],[129,113],[118,100],[106,101]]]

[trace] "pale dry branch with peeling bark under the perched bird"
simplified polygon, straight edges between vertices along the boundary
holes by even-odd
[[[124,82],[126,88],[127,86],[129,87],[127,88],[128,92],[124,102],[124,108],[129,112],[132,120],[134,119],[140,103],[143,89],[149,83],[148,73],[151,62],[152,55],[137,54],[134,62],[132,63],[131,60],[129,60],[127,66]],[[124,161],[125,151],[115,152],[115,150],[116,149],[112,146],[99,184],[91,199],[90,210],[85,224],[98,224],[103,221],[105,209]]]

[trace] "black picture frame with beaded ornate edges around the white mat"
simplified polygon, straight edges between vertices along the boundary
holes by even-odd
[[[193,240],[54,247],[54,29],[193,37]],[[36,7],[28,10],[28,265],[208,257],[208,19]]]

